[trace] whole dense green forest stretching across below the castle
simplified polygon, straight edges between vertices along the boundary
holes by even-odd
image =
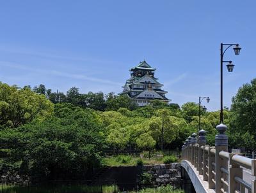
[[[214,145],[219,111],[202,111],[201,128]],[[256,79],[241,87],[224,111],[231,147],[255,149]],[[198,132],[198,104],[154,100],[138,107],[113,92],[66,94],[0,82],[0,175],[76,178],[100,167],[107,150],[176,149]]]

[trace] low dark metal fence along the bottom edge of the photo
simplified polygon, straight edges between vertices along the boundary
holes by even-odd
[[[1,184],[1,193],[193,193],[191,183],[174,183],[156,187],[154,185],[122,184],[117,185],[84,185],[84,184],[48,184],[48,185],[11,185]],[[124,187],[127,187],[126,189]]]

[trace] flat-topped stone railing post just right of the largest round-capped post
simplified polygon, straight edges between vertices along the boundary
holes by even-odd
[[[243,168],[240,168],[239,164],[236,164],[232,162],[232,157],[234,155],[242,155],[243,154],[235,154],[235,153],[230,153],[228,154],[228,165],[231,167],[228,168],[228,192],[235,192],[236,190],[240,190],[240,192],[244,192],[243,190],[240,189],[239,183],[237,183],[234,179],[235,176],[243,179]]]

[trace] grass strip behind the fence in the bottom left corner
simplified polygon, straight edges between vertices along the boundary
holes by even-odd
[[[21,187],[18,185],[3,185],[1,193],[117,193],[116,185],[88,186],[88,185],[40,185]]]

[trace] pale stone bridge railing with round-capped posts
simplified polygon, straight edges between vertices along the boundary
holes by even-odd
[[[216,129],[219,134],[214,147],[206,145],[204,130],[199,131],[198,139],[195,133],[189,136],[182,146],[182,159],[189,161],[216,193],[256,193],[256,159],[228,153],[227,126],[220,124]],[[250,170],[250,179],[244,180],[243,169]]]

